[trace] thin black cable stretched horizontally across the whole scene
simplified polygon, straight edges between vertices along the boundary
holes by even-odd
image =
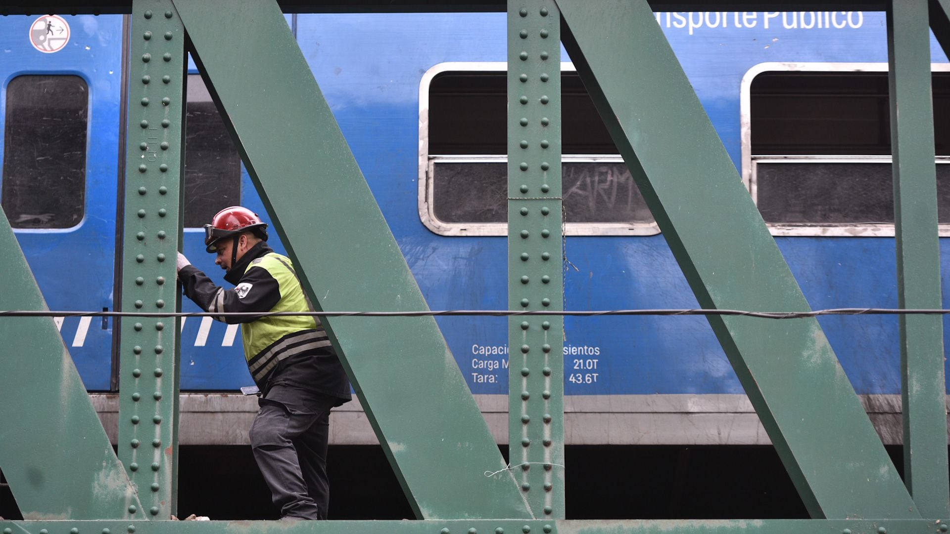
[[[0,311],[2,317],[212,317],[212,318],[262,318],[262,317],[599,317],[599,316],[659,316],[703,315],[742,316],[762,319],[803,319],[825,315],[950,315],[950,309],[899,309],[899,308],[829,308],[812,311],[745,311],[736,309],[612,309],[612,310],[488,310],[452,309],[422,311],[281,311],[281,312],[141,312],[141,311]]]

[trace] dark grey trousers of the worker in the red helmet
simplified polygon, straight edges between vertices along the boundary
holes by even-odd
[[[268,398],[257,401],[260,410],[250,433],[257,468],[271,488],[281,519],[327,519],[327,442],[334,399],[280,389],[283,395],[268,393]],[[295,402],[273,398],[297,392]]]

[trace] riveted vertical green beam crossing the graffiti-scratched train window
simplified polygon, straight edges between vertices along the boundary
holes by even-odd
[[[563,309],[561,13],[508,2],[508,309]],[[563,318],[508,321],[509,460],[538,517],[564,517]]]

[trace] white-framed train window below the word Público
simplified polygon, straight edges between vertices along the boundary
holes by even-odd
[[[893,235],[887,65],[775,66],[747,75],[743,110],[744,176],[772,233]],[[950,72],[934,72],[933,96],[938,218],[950,235]]]

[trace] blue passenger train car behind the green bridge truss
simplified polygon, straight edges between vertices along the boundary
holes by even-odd
[[[123,17],[59,18],[70,36],[53,52],[32,42],[39,17],[0,18],[0,200],[51,309],[113,309]],[[656,22],[809,304],[897,307],[884,14],[663,12]],[[429,307],[504,309],[504,14],[299,14],[288,23]],[[940,235],[950,236],[950,67],[933,39],[932,48]],[[563,61],[565,308],[698,307]],[[189,73],[184,253],[222,283],[200,225],[227,205],[264,209],[197,70]],[[946,239],[941,250],[946,286]],[[820,321],[859,394],[900,393],[896,318]],[[505,320],[439,323],[472,393],[506,395]],[[112,322],[58,324],[86,387],[113,389]],[[567,395],[610,397],[610,411],[632,410],[642,396],[743,393],[699,317],[568,318],[564,360]],[[182,390],[251,383],[237,325],[183,322],[181,361]]]

